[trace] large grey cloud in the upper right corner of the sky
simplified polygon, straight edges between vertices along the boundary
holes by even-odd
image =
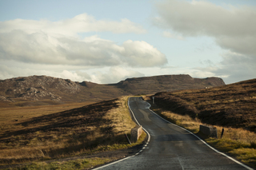
[[[159,2],[157,9],[157,26],[184,36],[210,36],[224,49],[256,56],[256,7],[226,9],[206,1],[169,0]]]

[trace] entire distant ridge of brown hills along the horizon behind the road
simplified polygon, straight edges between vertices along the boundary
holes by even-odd
[[[15,77],[0,80],[0,102],[17,102],[17,105],[22,106],[22,102],[27,104],[28,101],[34,101],[34,105],[102,101],[125,95],[205,89],[219,85],[225,83],[218,77],[193,78],[184,74],[127,78],[117,84],[107,85],[48,76]]]

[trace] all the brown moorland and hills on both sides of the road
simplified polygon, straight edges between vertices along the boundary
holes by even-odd
[[[3,80],[0,165],[85,169],[130,155],[146,134],[135,144],[125,137],[135,125],[128,95],[150,94],[144,98],[156,113],[191,132],[200,135],[199,125],[214,125],[220,136],[225,128],[222,139],[205,140],[256,167],[255,93],[256,79],[225,85],[218,77],[189,75],[130,78],[111,85],[46,76]]]

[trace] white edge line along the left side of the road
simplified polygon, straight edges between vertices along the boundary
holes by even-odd
[[[130,109],[130,97],[128,98],[128,108]],[[136,122],[138,125],[140,125],[140,124],[138,123],[136,117],[134,116],[134,112],[133,112],[131,109],[130,109],[130,113],[132,113],[135,122]],[[143,128],[143,127],[142,127],[142,128]],[[125,158],[123,158],[122,160],[127,160],[127,159],[129,159],[130,157],[138,156],[138,154],[143,151],[143,149],[147,146],[147,144],[150,143],[150,133],[147,132],[145,128],[143,128],[143,130],[146,132],[148,138],[147,138],[146,144],[144,144],[144,147],[142,148],[142,150],[140,150],[139,152],[135,153],[133,156],[125,157]],[[111,164],[116,164],[116,163],[118,163],[118,162],[121,162],[122,160],[117,160],[117,161],[114,161],[114,162],[112,162],[112,163],[110,163],[110,164],[105,164],[105,165],[103,165],[103,166],[101,166],[101,167],[93,168],[93,169],[94,169],[94,170],[97,170],[97,169],[105,168],[105,167],[107,167],[107,166],[110,166]]]

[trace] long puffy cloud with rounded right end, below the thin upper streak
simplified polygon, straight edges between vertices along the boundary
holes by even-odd
[[[22,30],[0,34],[0,54],[2,60],[50,65],[149,67],[167,62],[163,53],[143,41],[116,45],[97,36],[81,40]]]

